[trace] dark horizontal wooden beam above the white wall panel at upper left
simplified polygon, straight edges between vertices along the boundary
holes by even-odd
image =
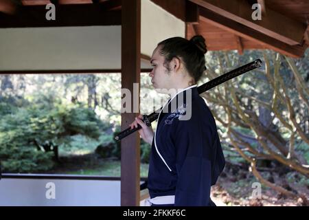
[[[102,10],[95,4],[57,5],[56,20],[47,21],[45,5],[20,7],[14,15],[0,13],[0,28],[121,25],[121,11]]]

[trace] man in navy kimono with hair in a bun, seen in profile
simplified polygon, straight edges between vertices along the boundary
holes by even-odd
[[[141,120],[139,134],[152,145],[148,190],[152,206],[215,206],[210,188],[225,166],[216,122],[198,95],[205,72],[203,36],[166,39],[152,53],[152,85],[170,94],[155,133]],[[176,103],[176,104],[175,104]],[[175,107],[176,106],[176,107]]]

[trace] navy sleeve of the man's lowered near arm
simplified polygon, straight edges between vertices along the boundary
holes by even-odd
[[[175,206],[208,206],[214,131],[192,121],[179,122],[174,138],[177,184]]]

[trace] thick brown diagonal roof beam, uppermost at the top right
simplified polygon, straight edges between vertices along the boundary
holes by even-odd
[[[262,20],[254,21],[251,17],[253,10],[247,1],[242,0],[190,0],[203,8],[216,12],[231,21],[236,21],[249,28],[262,32],[267,36],[287,43],[298,45],[304,37],[306,25],[273,10],[268,9]]]

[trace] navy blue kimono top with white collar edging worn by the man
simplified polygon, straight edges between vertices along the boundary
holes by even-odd
[[[192,102],[187,102],[190,89]],[[225,166],[216,122],[196,85],[172,100],[184,97],[177,109],[165,104],[152,140],[148,172],[150,198],[175,195],[174,206],[215,206],[210,188]],[[172,101],[170,100],[170,101]],[[191,104],[190,120],[181,120]]]

